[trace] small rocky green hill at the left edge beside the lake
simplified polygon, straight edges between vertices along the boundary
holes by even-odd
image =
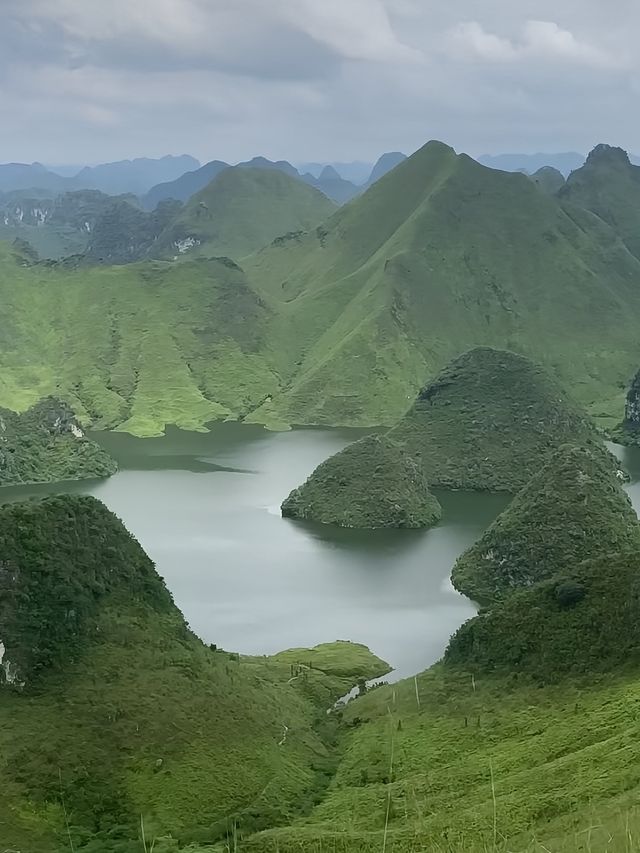
[[[0,409],[0,486],[109,477],[116,470],[66,403],[48,397],[21,415]]]

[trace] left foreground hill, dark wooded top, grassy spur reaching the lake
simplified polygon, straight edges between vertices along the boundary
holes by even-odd
[[[205,647],[92,498],[2,507],[0,540],[5,846],[168,853],[241,840],[321,796],[326,710],[386,664],[351,643],[255,659]]]

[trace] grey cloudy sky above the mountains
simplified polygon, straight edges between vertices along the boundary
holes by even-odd
[[[637,0],[0,0],[0,161],[640,152]]]

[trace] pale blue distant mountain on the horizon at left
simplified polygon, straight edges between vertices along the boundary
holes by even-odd
[[[173,181],[199,166],[200,163],[188,154],[179,157],[167,155],[158,160],[139,157],[87,166],[71,180],[77,189],[95,189],[109,195],[144,195],[156,184]]]

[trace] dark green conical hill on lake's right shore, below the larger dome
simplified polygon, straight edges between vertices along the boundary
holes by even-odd
[[[583,560],[640,546],[640,526],[606,453],[561,447],[453,568],[482,604]]]

